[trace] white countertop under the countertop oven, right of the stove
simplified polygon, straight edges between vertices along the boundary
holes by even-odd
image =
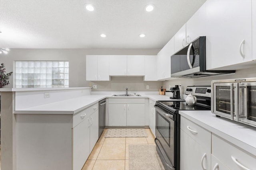
[[[211,111],[179,111],[180,115],[256,156],[256,128],[240,124]]]

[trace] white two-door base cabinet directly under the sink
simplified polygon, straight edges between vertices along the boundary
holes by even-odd
[[[145,99],[108,99],[108,126],[145,126]]]

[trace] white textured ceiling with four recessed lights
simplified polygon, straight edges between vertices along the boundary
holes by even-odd
[[[205,1],[0,0],[0,48],[162,48]]]

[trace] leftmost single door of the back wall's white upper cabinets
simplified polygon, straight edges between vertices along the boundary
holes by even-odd
[[[98,80],[98,57],[97,55],[86,55],[86,80]]]

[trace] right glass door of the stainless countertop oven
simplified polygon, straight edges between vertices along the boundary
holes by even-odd
[[[240,121],[256,126],[256,82],[240,83]]]

